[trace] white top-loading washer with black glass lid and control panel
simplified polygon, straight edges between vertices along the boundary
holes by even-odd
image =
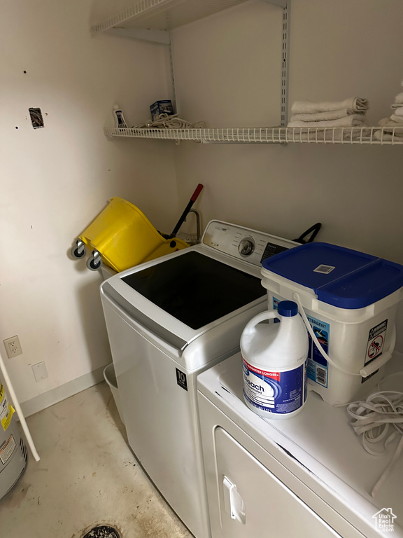
[[[197,538],[208,538],[196,376],[239,350],[267,308],[262,259],[297,243],[221,221],[201,244],[101,284],[129,445]]]

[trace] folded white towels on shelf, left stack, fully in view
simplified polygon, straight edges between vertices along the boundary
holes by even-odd
[[[331,102],[296,101],[288,127],[364,127],[368,108],[368,100],[362,97]]]

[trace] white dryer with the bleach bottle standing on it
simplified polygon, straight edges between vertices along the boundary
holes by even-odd
[[[370,495],[392,446],[367,453],[345,408],[314,392],[295,417],[264,420],[242,387],[240,353],[198,377],[212,538],[403,537],[403,457]]]

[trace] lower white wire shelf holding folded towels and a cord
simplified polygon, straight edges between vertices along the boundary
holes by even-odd
[[[120,129],[105,127],[107,137],[190,140],[204,144],[403,144],[402,127],[215,127],[211,129]]]

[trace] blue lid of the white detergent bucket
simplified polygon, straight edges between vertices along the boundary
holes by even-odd
[[[403,286],[403,265],[330,243],[302,244],[262,265],[338,308],[364,308]]]

